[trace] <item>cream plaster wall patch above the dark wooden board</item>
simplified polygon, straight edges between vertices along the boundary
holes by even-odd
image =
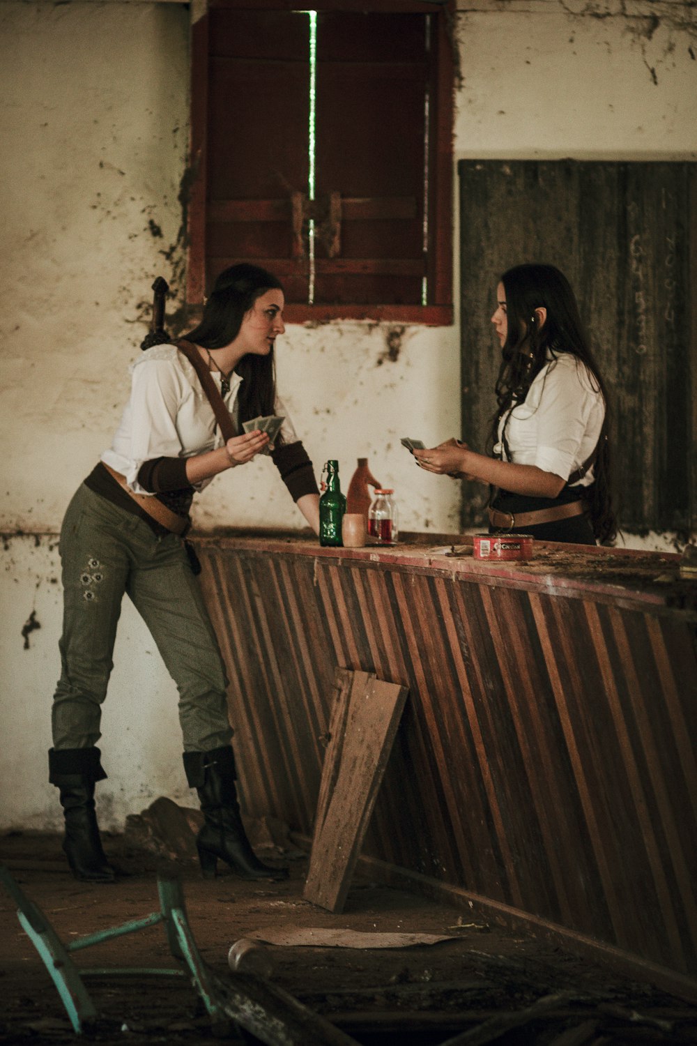
[[[689,160],[697,10],[686,0],[459,0],[461,157]]]

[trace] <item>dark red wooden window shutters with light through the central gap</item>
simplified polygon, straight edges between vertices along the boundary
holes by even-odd
[[[442,10],[318,10],[310,185],[309,16],[287,6],[223,0],[193,27],[187,300],[245,260],[291,322],[451,322]]]

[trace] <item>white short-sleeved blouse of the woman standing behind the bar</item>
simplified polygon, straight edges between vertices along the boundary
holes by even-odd
[[[508,414],[510,457],[501,441]],[[508,414],[498,424],[494,454],[504,461],[537,465],[566,480],[590,457],[598,442],[605,402],[586,365],[571,353],[562,353],[542,367],[525,401]],[[588,486],[593,479],[591,467],[575,485]]]

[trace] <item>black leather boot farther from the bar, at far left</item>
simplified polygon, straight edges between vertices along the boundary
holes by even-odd
[[[94,786],[107,776],[98,748],[51,748],[48,779],[61,795],[66,821],[63,849],[75,879],[113,883],[114,869],[101,847],[94,810]]]

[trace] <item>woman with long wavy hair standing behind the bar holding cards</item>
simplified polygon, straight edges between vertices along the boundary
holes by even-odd
[[[550,265],[509,269],[491,321],[502,346],[493,456],[449,439],[414,451],[418,463],[490,484],[491,533],[611,541],[607,399],[568,280]]]

